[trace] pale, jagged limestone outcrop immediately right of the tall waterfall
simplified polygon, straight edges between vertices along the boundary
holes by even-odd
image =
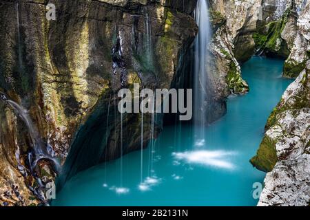
[[[211,21],[220,21],[220,25],[215,25],[210,46],[216,94],[222,97],[246,94],[249,86],[242,79],[239,62],[247,61],[254,54],[252,33],[256,30],[260,1],[209,2]]]

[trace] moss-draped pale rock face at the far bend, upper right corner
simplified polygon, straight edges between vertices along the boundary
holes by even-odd
[[[283,76],[296,78],[309,59],[308,0],[262,1],[254,33],[258,54],[285,58]]]

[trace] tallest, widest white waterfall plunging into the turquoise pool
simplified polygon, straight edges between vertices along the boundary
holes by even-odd
[[[207,84],[208,84],[208,44],[211,39],[209,8],[206,0],[198,0],[195,10],[198,35],[195,42],[194,63],[194,135],[195,145],[205,144],[205,125],[207,124]]]

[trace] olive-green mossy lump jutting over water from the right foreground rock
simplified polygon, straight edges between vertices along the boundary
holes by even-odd
[[[278,162],[276,142],[269,137],[264,137],[257,155],[250,160],[251,164],[264,172],[270,172]]]

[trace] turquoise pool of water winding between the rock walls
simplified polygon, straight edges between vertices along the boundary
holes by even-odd
[[[227,115],[205,129],[205,140],[194,143],[191,126],[165,127],[153,151],[143,151],[142,180],[137,151],[74,176],[52,205],[256,206],[253,184],[262,183],[265,173],[249,159],[269,114],[292,82],[281,78],[282,65],[261,57],[242,65],[251,91],[228,99]]]

